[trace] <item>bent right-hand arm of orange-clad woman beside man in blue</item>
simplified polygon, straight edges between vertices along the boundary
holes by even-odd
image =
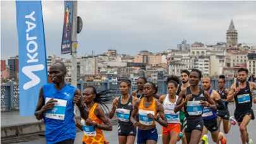
[[[104,114],[104,112],[102,111],[101,107],[99,105],[97,105],[96,108],[96,116],[99,117],[99,119],[101,119],[101,121],[103,122],[102,124],[95,124],[95,128],[99,128],[105,131],[112,131],[112,125],[110,123],[109,118]]]

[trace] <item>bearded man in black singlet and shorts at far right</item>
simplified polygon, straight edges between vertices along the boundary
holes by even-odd
[[[247,68],[238,69],[238,81],[233,83],[227,97],[228,101],[235,98],[236,109],[234,115],[240,127],[241,141],[243,144],[252,143],[252,139],[248,136],[247,125],[251,119],[255,118],[252,110],[252,102],[255,102],[252,97],[252,90],[256,90],[256,83],[247,81],[247,77]]]

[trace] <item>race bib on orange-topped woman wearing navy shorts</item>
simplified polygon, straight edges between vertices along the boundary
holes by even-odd
[[[141,124],[144,124],[146,126],[151,126],[153,124],[153,119],[147,117],[147,114],[154,115],[154,111],[145,111],[145,110],[139,109],[138,110],[138,119]]]

